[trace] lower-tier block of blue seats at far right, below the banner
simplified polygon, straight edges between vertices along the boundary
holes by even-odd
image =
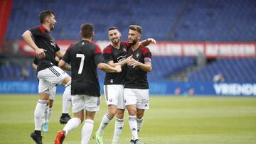
[[[220,59],[188,74],[190,82],[213,82],[215,74],[223,74],[225,82],[256,82],[256,59]]]

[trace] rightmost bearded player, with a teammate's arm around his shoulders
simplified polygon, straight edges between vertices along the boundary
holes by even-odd
[[[147,72],[151,71],[151,52],[139,44],[142,27],[129,26],[127,56],[132,55],[127,63],[124,82],[124,104],[129,113],[129,127],[132,132],[130,143],[141,143],[138,132],[142,129],[144,110],[149,109],[149,83]]]

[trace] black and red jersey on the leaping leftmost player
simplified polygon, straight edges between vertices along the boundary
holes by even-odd
[[[35,28],[31,28],[29,31],[31,31],[38,48],[46,50],[46,57],[38,60],[37,72],[55,65],[55,52],[58,52],[60,48],[56,44],[53,36],[50,35],[50,31],[48,31],[44,26],[36,26]]]

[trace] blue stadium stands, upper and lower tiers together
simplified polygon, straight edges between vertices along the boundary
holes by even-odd
[[[21,34],[39,25],[38,13],[55,11],[56,40],[78,40],[81,23],[95,26],[95,40],[107,40],[107,29],[117,26],[127,39],[130,24],[141,25],[143,38],[172,41],[255,42],[256,1],[233,0],[13,0],[6,30],[6,40],[21,40]],[[1,54],[1,52],[0,52]],[[153,55],[154,56],[154,55]],[[32,62],[32,61],[31,61]],[[196,57],[154,57],[149,80],[166,79],[186,67],[196,65]],[[1,79],[20,79],[23,64],[0,62]],[[188,73],[190,82],[212,82],[221,72],[225,82],[255,82],[255,58],[218,59]],[[36,79],[31,65],[28,79]],[[105,77],[99,72],[100,79]]]

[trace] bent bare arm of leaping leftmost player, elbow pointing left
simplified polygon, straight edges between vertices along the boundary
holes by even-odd
[[[31,47],[33,48],[33,50],[36,51],[36,57],[38,57],[38,59],[41,59],[43,57],[46,57],[46,50],[43,50],[42,48],[38,48],[38,46],[36,45],[36,43],[33,41],[32,39],[32,33],[30,31],[25,31],[22,34],[22,38],[23,40]]]

